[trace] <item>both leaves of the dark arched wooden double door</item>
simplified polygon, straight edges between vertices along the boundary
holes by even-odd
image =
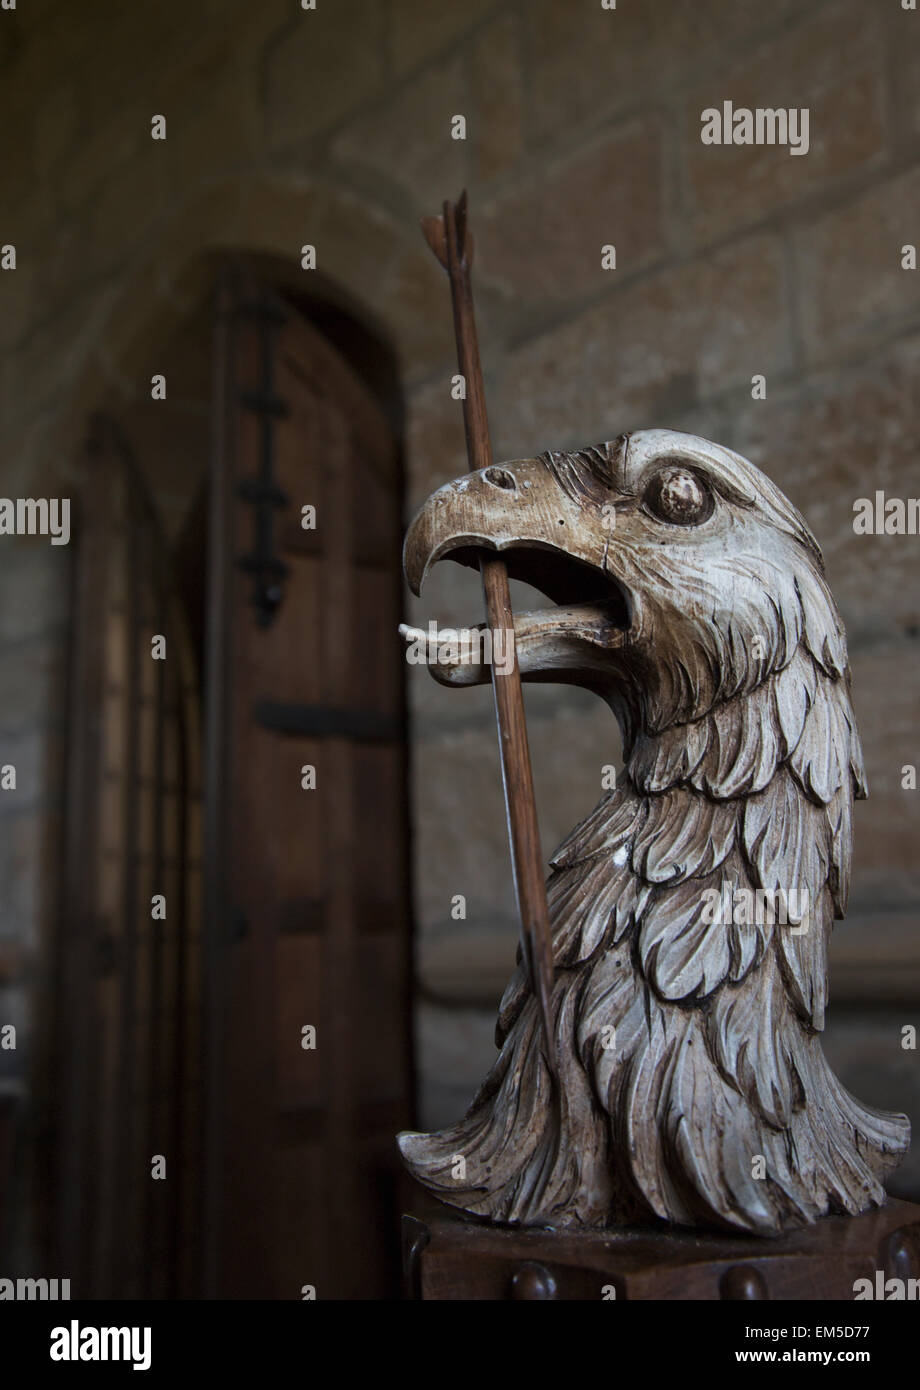
[[[54,1268],[75,1298],[396,1295],[400,461],[370,389],[277,295],[228,275],[215,343],[207,498],[179,548],[129,413],[88,443]]]

